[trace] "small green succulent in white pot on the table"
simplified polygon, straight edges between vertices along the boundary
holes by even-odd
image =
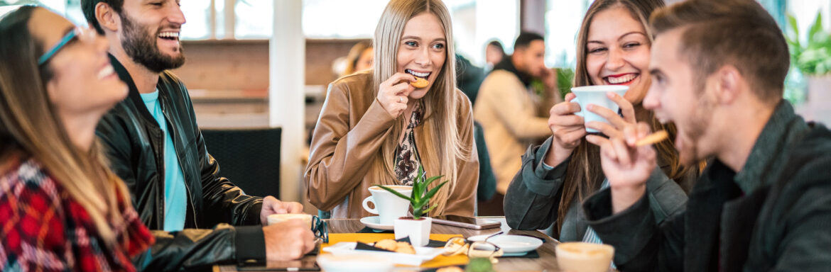
[[[377,187],[381,187],[398,197],[406,199],[412,206],[413,216],[398,218],[393,223],[394,230],[396,231],[396,239],[409,236],[410,243],[418,246],[425,246],[428,242],[430,242],[430,226],[432,226],[433,221],[430,217],[426,217],[424,215],[428,211],[432,211],[435,206],[438,206],[438,204],[434,203],[433,206],[426,209],[425,207],[430,202],[430,198],[433,198],[435,193],[439,192],[439,189],[442,186],[445,186],[447,181],[439,183],[438,186],[433,187],[430,191],[427,191],[427,187],[430,186],[430,183],[435,182],[435,180],[441,177],[443,176],[426,177],[424,168],[419,167],[416,179],[413,180],[413,190],[410,197],[407,197],[404,194],[401,194],[401,192],[397,192],[389,187],[376,185]]]

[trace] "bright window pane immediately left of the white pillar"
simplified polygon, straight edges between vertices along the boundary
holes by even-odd
[[[272,35],[272,0],[237,0],[234,6],[234,36],[238,39],[263,39]]]

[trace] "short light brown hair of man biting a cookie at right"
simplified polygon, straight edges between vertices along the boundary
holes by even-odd
[[[753,0],[689,0],[652,13],[656,36],[679,27],[679,53],[696,73],[698,90],[707,76],[731,65],[749,82],[760,100],[782,98],[790,56],[782,31],[765,8]]]

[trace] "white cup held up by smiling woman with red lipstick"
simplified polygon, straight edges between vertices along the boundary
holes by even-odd
[[[583,124],[588,124],[588,122],[598,121],[608,124],[609,121],[603,118],[600,115],[597,115],[591,111],[588,111],[586,107],[588,104],[596,104],[606,109],[612,109],[613,112],[617,113],[617,109],[620,107],[617,106],[615,101],[610,100],[606,97],[607,92],[613,92],[617,95],[623,96],[626,94],[626,91],[629,90],[629,86],[625,85],[593,85],[593,86],[582,86],[582,87],[574,87],[572,88],[572,92],[574,95],[577,95],[577,98],[572,100],[572,102],[580,104],[580,111],[575,113],[578,116],[583,116]],[[597,133],[597,129],[589,129],[586,128],[586,132],[588,133]]]

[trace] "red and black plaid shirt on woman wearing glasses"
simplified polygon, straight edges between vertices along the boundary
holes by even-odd
[[[135,271],[130,256],[154,242],[138,214],[119,197],[125,221],[107,248],[89,214],[34,159],[0,176],[0,270]],[[126,239],[125,239],[126,237]]]

